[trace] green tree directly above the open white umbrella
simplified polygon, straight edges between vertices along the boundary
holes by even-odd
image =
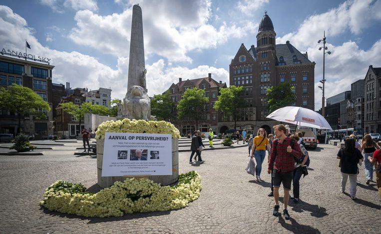
[[[281,83],[267,89],[267,106],[269,112],[291,106],[296,102],[296,95],[293,93],[295,87],[290,82]]]

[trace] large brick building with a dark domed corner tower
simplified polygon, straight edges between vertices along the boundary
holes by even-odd
[[[267,119],[266,89],[283,82],[291,82],[295,87],[295,106],[311,110],[315,108],[315,62],[308,54],[301,53],[289,41],[276,44],[273,22],[265,13],[259,25],[257,47],[249,49],[241,44],[229,66],[230,85],[244,86],[248,108],[240,111],[237,128],[255,130],[259,127],[272,131],[274,121]],[[251,114],[252,113],[252,114]],[[234,123],[219,119],[220,132],[233,128]]]

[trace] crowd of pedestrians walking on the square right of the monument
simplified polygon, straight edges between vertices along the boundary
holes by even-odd
[[[245,130],[241,133],[236,131],[235,134],[237,144],[239,144],[240,137],[242,136],[243,144],[247,142],[248,156],[251,157],[251,160],[255,158],[255,179],[257,182],[263,181],[261,179],[262,164],[266,157],[266,151],[268,152],[267,172],[271,174],[271,192],[268,196],[274,197],[275,206],[273,215],[278,216],[280,213],[279,188],[282,185],[284,193],[283,216],[286,220],[289,220],[290,214],[287,209],[289,198],[294,203],[299,202],[301,195],[300,180],[302,176],[308,175],[307,167],[310,165],[309,153],[304,147],[303,133],[297,132],[291,134],[288,125],[278,124],[274,126],[274,135],[267,134],[263,128],[258,129],[256,136],[249,134],[247,139],[247,132]],[[211,139],[209,138],[209,140]],[[349,195],[351,199],[357,199],[358,166],[361,166],[364,162],[366,184],[369,185],[371,182],[374,182],[373,175],[374,171],[376,172],[376,184],[381,202],[381,150],[379,144],[374,142],[369,134],[364,136],[361,144],[357,142],[356,135],[354,134],[351,134],[344,142],[344,147],[337,153],[337,158],[340,159],[340,191],[342,193],[346,192],[349,178]],[[196,154],[194,157],[196,162],[205,162],[201,159],[202,149],[200,150],[200,146],[204,147],[202,138],[200,137],[200,132],[195,131],[195,135],[192,137],[192,153],[189,163],[193,163],[192,157],[194,154]],[[212,147],[212,143],[210,143],[210,147]],[[198,160],[196,159],[197,156]],[[254,175],[254,170],[252,173]],[[293,196],[290,196],[291,186]]]

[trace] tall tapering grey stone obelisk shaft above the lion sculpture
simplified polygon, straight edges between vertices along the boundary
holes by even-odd
[[[134,5],[132,8],[127,90],[136,85],[142,87],[147,92],[145,72],[143,18],[140,6]]]

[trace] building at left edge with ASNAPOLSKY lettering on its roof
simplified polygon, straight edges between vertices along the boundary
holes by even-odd
[[[3,49],[4,50],[4,49]],[[17,56],[0,55],[0,86],[7,87],[13,83],[32,89],[50,106],[50,111],[37,110],[45,113],[45,119],[35,119],[33,116],[21,118],[21,128],[25,134],[34,134],[35,139],[46,139],[53,134],[53,99],[52,99],[52,69],[48,63],[34,60],[24,60]],[[15,113],[0,110],[0,133],[15,134],[18,117]]]

